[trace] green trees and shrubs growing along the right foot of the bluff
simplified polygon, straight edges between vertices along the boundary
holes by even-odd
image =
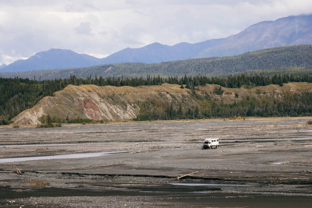
[[[281,98],[262,96],[243,98],[231,104],[217,102],[209,95],[200,96],[193,91],[194,99],[199,105],[187,107],[182,104],[174,106],[157,100],[140,103],[140,114],[134,120],[173,120],[173,119],[210,119],[235,117],[278,117],[278,116],[311,116],[312,92],[292,94],[285,92]]]

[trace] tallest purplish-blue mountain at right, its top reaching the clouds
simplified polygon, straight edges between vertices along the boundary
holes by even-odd
[[[264,21],[201,51],[197,57],[232,56],[260,49],[312,44],[312,15]]]

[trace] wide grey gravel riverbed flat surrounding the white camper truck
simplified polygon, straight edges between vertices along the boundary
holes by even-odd
[[[0,128],[0,206],[310,207],[312,125],[307,120]],[[204,137],[219,138],[220,148],[201,150]],[[1,161],[89,152],[117,153]],[[14,173],[17,168],[22,175]],[[34,186],[34,181],[49,185]]]

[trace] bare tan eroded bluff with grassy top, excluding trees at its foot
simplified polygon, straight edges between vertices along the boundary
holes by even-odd
[[[12,121],[15,124],[37,124],[40,117],[66,119],[93,120],[130,120],[140,113],[140,104],[157,100],[158,103],[173,104],[178,109],[180,104],[185,108],[201,106],[207,97],[215,102],[232,103],[246,96],[255,98],[276,98],[281,93],[300,93],[312,91],[311,83],[288,83],[280,87],[268,85],[259,87],[223,88],[222,94],[214,93],[219,85],[205,85],[196,87],[195,91],[181,89],[180,85],[154,85],[139,87],[114,87],[96,85],[69,85],[53,96],[41,99],[33,108],[17,115]],[[195,94],[195,95],[194,95]],[[236,96],[239,95],[239,96]]]

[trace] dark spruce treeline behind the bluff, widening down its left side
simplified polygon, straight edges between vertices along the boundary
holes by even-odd
[[[312,75],[231,75],[228,77],[209,77],[203,75],[182,77],[150,76],[146,78],[121,77],[97,77],[77,78],[75,75],[68,79],[33,80],[28,78],[0,78],[0,124],[8,124],[9,121],[25,109],[32,108],[45,96],[52,96],[54,92],[63,89],[67,85],[112,85],[112,86],[142,86],[161,85],[163,83],[185,85],[186,88],[195,89],[198,85],[217,84],[227,88],[239,88],[242,85],[265,86],[270,84],[283,85],[287,82],[310,82]]]

